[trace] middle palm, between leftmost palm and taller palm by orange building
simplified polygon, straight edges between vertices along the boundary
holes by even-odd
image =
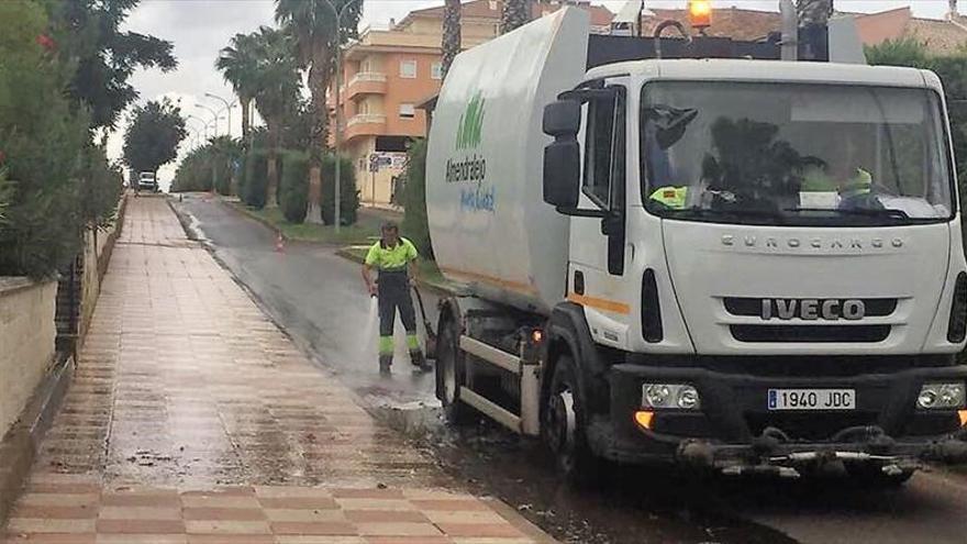
[[[299,102],[299,73],[287,33],[259,26],[251,35],[255,42],[255,109],[265,120],[269,135],[266,206],[276,206],[279,186],[278,148],[286,115]]]

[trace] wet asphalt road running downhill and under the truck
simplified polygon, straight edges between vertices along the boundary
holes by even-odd
[[[486,422],[443,428],[432,375],[410,373],[405,355],[398,354],[391,379],[376,375],[364,347],[369,302],[357,264],[313,245],[290,244],[278,254],[268,229],[218,201],[186,196],[180,208],[273,319],[371,412],[410,431],[469,488],[519,507],[563,541],[967,543],[967,477],[945,471],[919,474],[890,491],[843,478],[694,480],[629,467],[609,468],[592,489],[563,486],[532,441]]]

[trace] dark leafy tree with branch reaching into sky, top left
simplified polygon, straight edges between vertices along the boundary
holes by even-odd
[[[169,71],[178,65],[170,42],[120,30],[138,2],[69,0],[44,3],[51,10],[56,49],[65,65],[75,67],[67,90],[90,112],[92,129],[114,127],[121,112],[137,99],[137,90],[129,82],[136,69]]]

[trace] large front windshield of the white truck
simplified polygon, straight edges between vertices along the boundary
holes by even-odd
[[[953,217],[940,100],[926,89],[648,84],[645,208],[665,218],[893,225]]]

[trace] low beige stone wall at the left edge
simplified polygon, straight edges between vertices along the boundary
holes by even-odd
[[[57,282],[0,278],[0,437],[54,360]]]

